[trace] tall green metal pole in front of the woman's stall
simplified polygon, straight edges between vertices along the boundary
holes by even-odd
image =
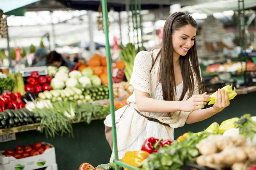
[[[114,97],[113,97],[113,82],[111,74],[111,56],[110,56],[110,45],[108,40],[108,9],[107,0],[101,0],[102,13],[103,13],[103,26],[105,32],[105,48],[107,54],[107,68],[108,68],[108,88],[109,88],[109,99],[110,99],[110,112],[112,117],[112,139],[113,139],[113,151],[115,154],[115,160],[118,160],[117,152],[117,140],[116,140],[116,124],[115,124],[115,108],[114,108]],[[117,170],[117,164],[115,164],[115,169]]]

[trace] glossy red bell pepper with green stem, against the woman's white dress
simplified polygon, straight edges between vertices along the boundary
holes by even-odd
[[[141,147],[141,150],[144,150],[148,153],[153,153],[153,152],[158,152],[158,148],[160,147],[159,146],[159,143],[162,141],[163,139],[157,139],[157,138],[154,138],[154,137],[150,137],[150,138],[147,138],[142,147]]]

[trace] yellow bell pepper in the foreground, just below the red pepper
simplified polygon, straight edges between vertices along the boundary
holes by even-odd
[[[127,163],[134,167],[139,167],[142,161],[149,156],[149,153],[143,150],[139,151],[128,151],[125,153],[122,162]]]

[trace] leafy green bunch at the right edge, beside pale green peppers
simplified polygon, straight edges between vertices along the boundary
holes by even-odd
[[[256,133],[256,122],[251,119],[250,114],[243,115],[237,122],[236,128],[239,128],[239,133],[247,137],[253,138]]]

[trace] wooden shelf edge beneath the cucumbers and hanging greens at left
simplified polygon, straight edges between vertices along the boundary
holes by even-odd
[[[102,119],[105,119],[105,118],[92,118],[92,121],[102,120]],[[76,124],[76,123],[81,123],[81,122],[86,122],[86,120],[75,121],[75,122],[72,122],[72,123]],[[40,129],[40,123],[23,125],[23,126],[18,126],[18,127],[13,127],[13,128],[0,129],[0,135],[9,134],[9,133],[23,132],[23,131],[30,131],[30,130],[40,131],[41,130]]]

